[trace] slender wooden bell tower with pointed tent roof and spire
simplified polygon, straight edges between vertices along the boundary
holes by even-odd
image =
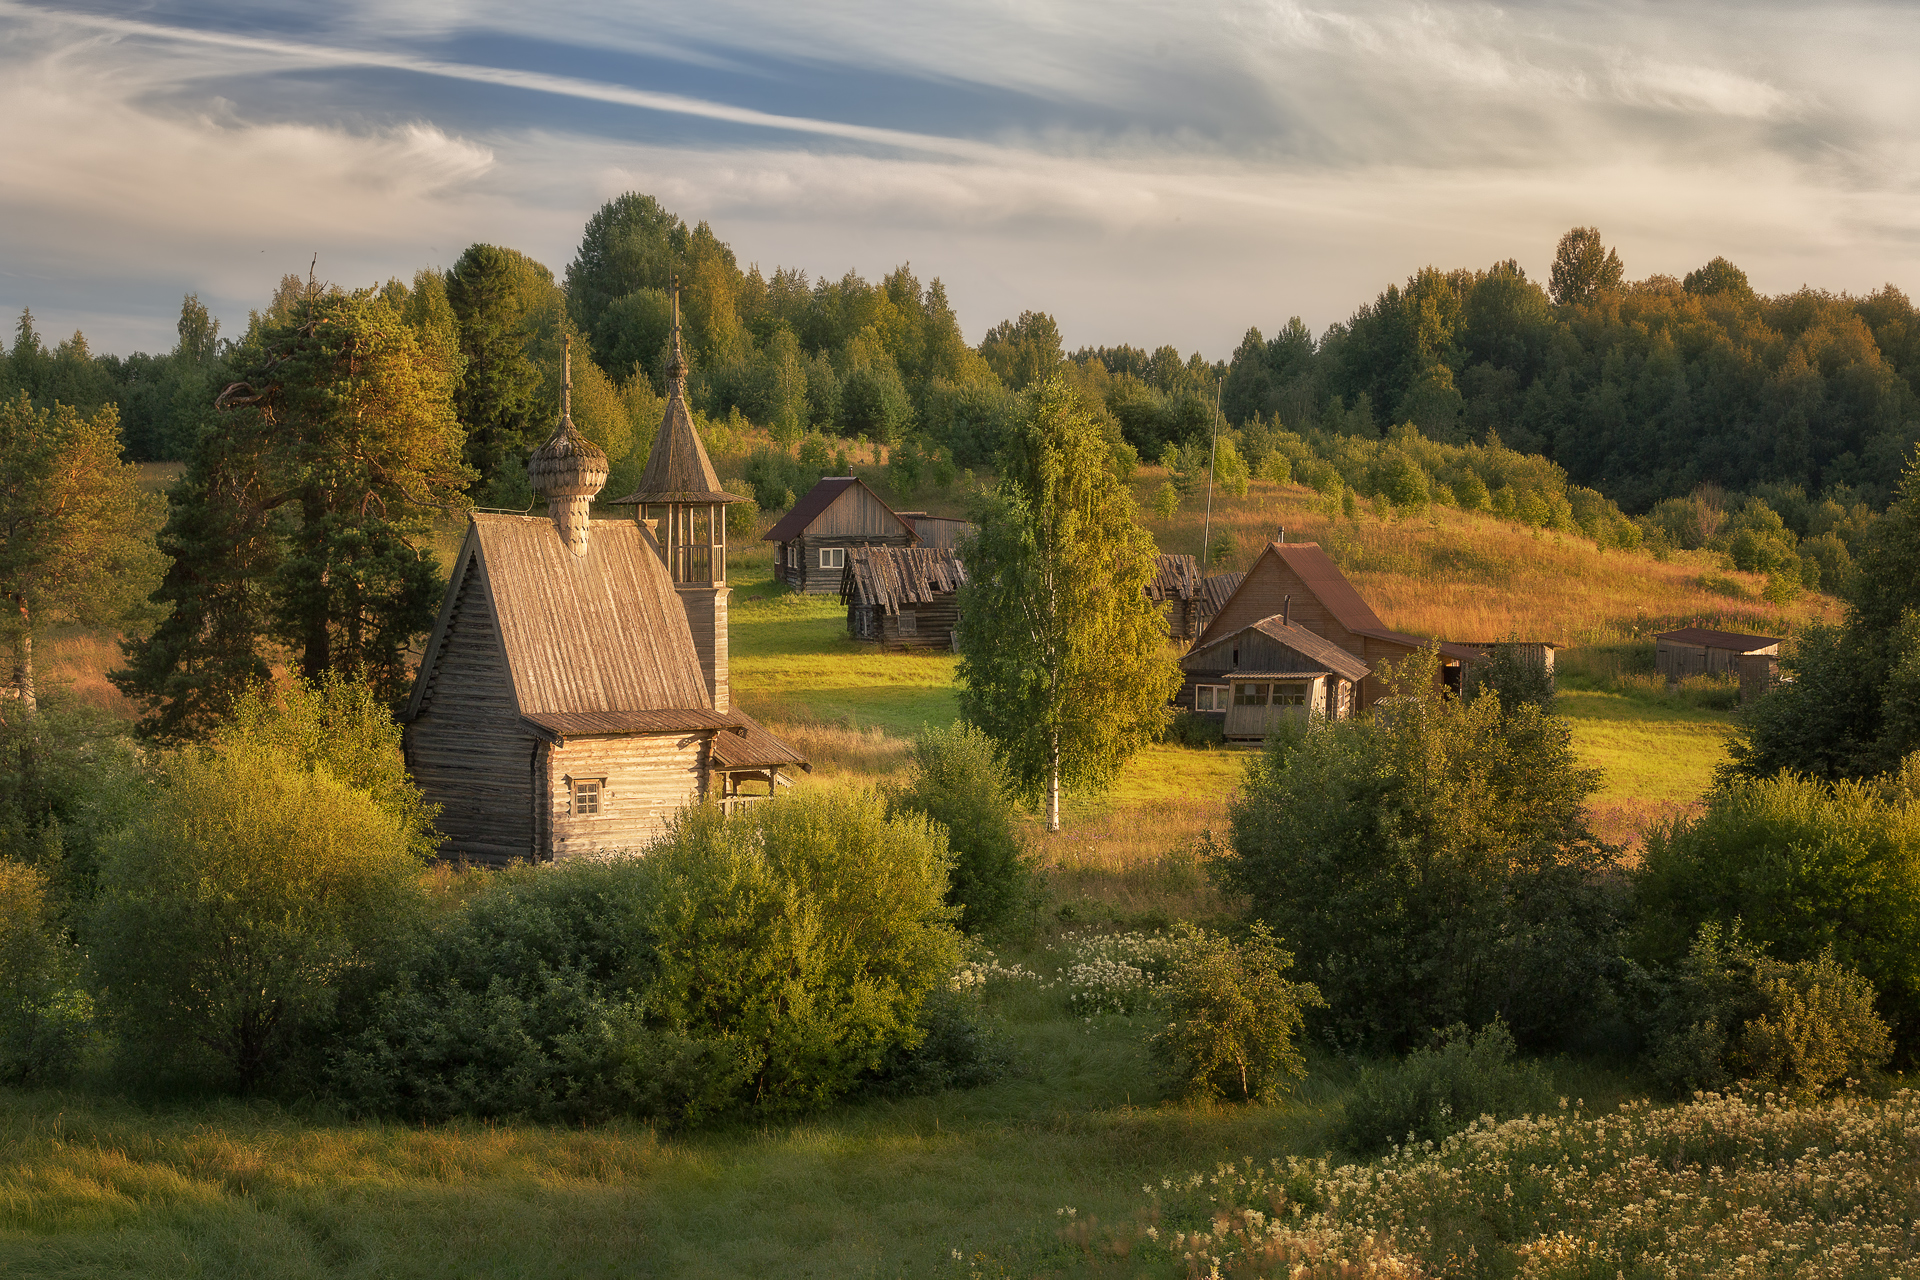
[[[743,499],[720,489],[720,476],[693,430],[687,409],[687,359],[680,349],[680,276],[674,276],[674,349],[666,363],[666,416],[639,487],[618,499],[634,505],[653,530],[666,574],[687,612],[693,649],[701,654],[714,710],[732,710],[726,687],[726,509]]]

